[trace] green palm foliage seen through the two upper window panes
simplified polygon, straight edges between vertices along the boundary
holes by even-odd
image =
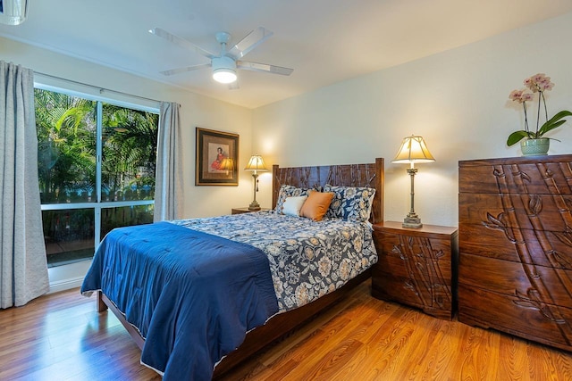
[[[35,90],[42,203],[96,199],[97,102]],[[108,198],[131,186],[155,188],[158,115],[103,104],[102,190]],[[132,193],[132,192],[131,192]],[[102,195],[102,196],[105,196]],[[131,195],[133,199],[141,196]],[[153,198],[145,192],[144,198]]]

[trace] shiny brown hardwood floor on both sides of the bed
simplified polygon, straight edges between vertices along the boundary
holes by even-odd
[[[366,281],[223,380],[571,380],[572,353],[370,296]],[[78,289],[0,311],[0,380],[159,380]]]

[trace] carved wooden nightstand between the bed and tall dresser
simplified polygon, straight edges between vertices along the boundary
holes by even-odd
[[[440,319],[457,309],[457,228],[401,222],[374,225],[379,261],[372,269],[372,295],[419,308]]]

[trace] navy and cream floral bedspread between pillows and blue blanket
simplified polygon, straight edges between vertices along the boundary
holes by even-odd
[[[273,211],[170,222],[265,252],[280,311],[293,310],[335,291],[377,261],[367,222],[315,222]]]

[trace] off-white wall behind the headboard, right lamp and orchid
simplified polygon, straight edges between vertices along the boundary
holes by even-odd
[[[417,166],[416,212],[425,224],[458,226],[458,161],[521,154],[506,145],[524,126],[509,93],[544,72],[555,83],[546,93],[549,117],[572,110],[570,36],[572,13],[258,108],[253,146],[281,166],[384,157],[384,219],[400,221],[409,211],[409,177],[391,160],[403,137],[421,135],[436,162]],[[561,140],[551,141],[550,154],[572,153],[572,120],[548,137]],[[260,187],[269,205],[269,176]]]

